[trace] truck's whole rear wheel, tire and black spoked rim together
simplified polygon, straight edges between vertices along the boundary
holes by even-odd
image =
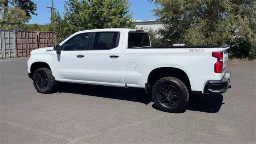
[[[161,78],[153,86],[152,98],[160,110],[179,112],[188,102],[188,88],[178,78]]]

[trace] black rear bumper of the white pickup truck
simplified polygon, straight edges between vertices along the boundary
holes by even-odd
[[[231,88],[230,71],[226,70],[221,80],[208,80],[204,86],[204,94],[222,94]]]

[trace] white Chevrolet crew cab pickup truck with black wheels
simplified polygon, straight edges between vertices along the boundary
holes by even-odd
[[[28,76],[40,93],[59,82],[144,88],[158,108],[182,110],[193,92],[231,88],[227,45],[151,46],[146,30],[98,29],[30,52]]]

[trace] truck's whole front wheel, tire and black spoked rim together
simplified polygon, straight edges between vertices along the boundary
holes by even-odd
[[[48,94],[51,93],[56,81],[48,68],[38,68],[33,74],[33,84],[37,92]]]

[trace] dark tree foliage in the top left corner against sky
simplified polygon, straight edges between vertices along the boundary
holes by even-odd
[[[32,2],[31,0],[1,0],[0,5],[1,8],[0,10],[4,10],[4,14],[8,12],[8,3],[10,3],[12,6],[15,6],[17,8],[21,8],[22,10],[25,10],[26,16],[31,18],[30,14],[35,14],[36,11],[36,4]],[[3,19],[4,15],[3,15]]]

